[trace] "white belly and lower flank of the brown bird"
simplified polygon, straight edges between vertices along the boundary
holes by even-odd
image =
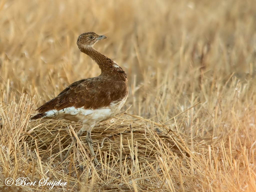
[[[125,97],[119,102],[112,102],[107,107],[102,107],[100,109],[84,109],[84,108],[74,108],[68,107],[62,110],[51,110],[46,112],[45,118],[57,118],[57,119],[67,119],[70,121],[79,121],[83,124],[93,125],[95,123],[112,118],[124,105],[126,101]]]

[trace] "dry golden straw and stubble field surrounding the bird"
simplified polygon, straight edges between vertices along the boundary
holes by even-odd
[[[0,29],[0,191],[256,191],[256,1],[2,0]],[[76,45],[88,31],[129,83],[92,131],[99,167],[86,133],[62,163],[81,124],[29,121],[100,74]]]

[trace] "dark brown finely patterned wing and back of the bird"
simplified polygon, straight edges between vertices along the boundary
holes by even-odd
[[[53,109],[61,110],[72,107],[98,109],[108,106],[113,101],[119,101],[127,95],[124,81],[109,78],[94,77],[76,81],[64,89],[56,98],[40,106],[39,114],[31,119],[44,117],[44,113]]]

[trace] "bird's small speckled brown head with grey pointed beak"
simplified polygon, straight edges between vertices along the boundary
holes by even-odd
[[[77,39],[77,46],[80,50],[90,48],[101,39],[106,39],[103,35],[97,35],[93,32],[87,32],[79,35]]]

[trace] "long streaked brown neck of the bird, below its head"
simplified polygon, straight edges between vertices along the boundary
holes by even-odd
[[[104,56],[93,47],[82,48],[80,50],[98,64],[102,76],[110,75],[112,77],[120,77],[122,80],[127,81],[124,70],[117,63]]]

